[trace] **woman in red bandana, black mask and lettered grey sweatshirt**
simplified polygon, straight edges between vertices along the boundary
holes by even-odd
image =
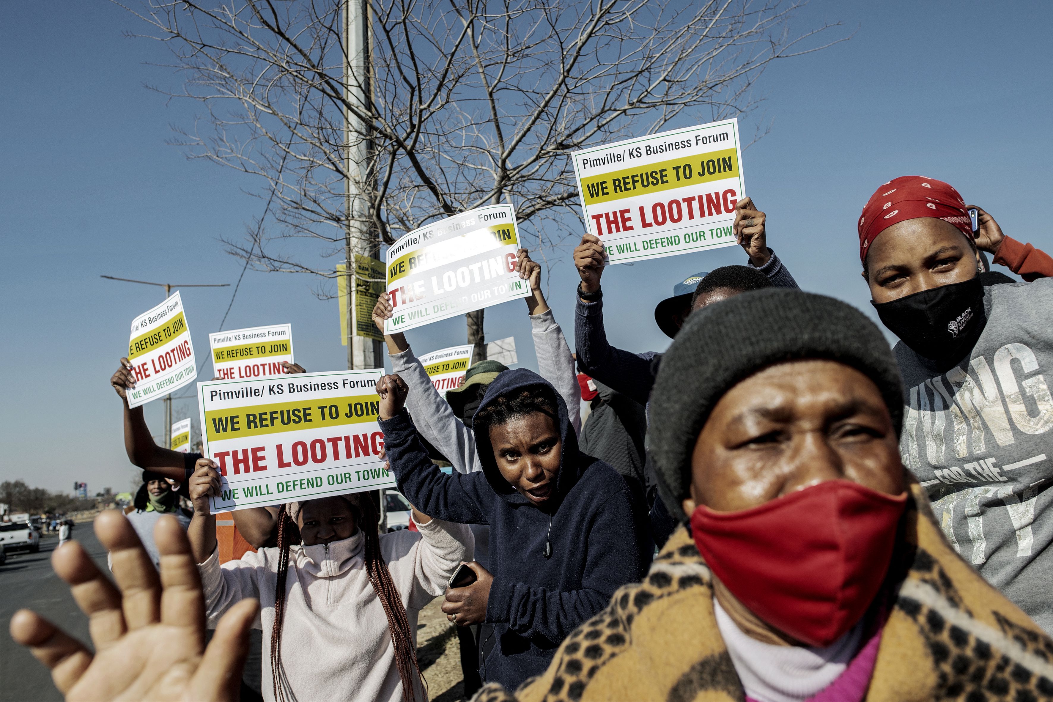
[[[903,462],[951,545],[1053,633],[1053,279],[982,285],[967,205],[931,178],[878,187],[858,229],[874,307],[900,339]]]

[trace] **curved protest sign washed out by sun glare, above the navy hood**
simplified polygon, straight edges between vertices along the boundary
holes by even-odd
[[[476,207],[414,229],[388,249],[388,334],[531,294],[516,273],[511,204]]]

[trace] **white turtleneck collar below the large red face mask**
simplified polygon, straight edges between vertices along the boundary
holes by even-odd
[[[749,698],[758,702],[801,702],[845,673],[859,649],[862,622],[826,648],[779,646],[747,636],[713,600],[717,628]]]

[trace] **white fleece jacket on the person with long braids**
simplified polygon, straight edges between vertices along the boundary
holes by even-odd
[[[418,611],[445,593],[457,565],[472,560],[473,547],[463,524],[433,519],[418,528],[380,537],[380,553],[402,596],[414,645]],[[220,565],[213,553],[198,565],[210,628],[232,605],[259,598],[254,627],[263,629],[264,700],[274,700],[270,651],[278,556],[277,548],[261,548]],[[281,662],[293,699],[402,699],[388,618],[365,574],[361,531],[329,544],[293,546],[285,590]],[[416,687],[414,698],[424,699],[419,683]]]

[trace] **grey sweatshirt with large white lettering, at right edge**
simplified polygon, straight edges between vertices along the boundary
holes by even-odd
[[[946,373],[896,344],[907,404],[900,450],[951,545],[1053,634],[1053,398],[1045,377],[1053,369],[1053,278],[985,287],[984,306],[984,333]]]

